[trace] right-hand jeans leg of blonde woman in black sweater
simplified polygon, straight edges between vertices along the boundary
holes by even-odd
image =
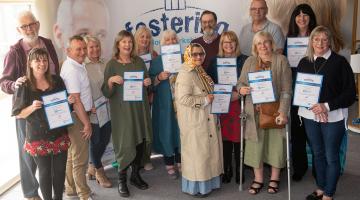
[[[322,126],[326,156],[324,195],[332,197],[340,176],[340,145],[345,134],[344,120]]]

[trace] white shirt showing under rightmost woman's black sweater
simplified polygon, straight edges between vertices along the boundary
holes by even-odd
[[[321,57],[323,57],[327,60],[327,59],[329,59],[330,56],[331,56],[331,50],[329,49]],[[318,56],[314,56],[314,60],[316,60],[317,57]],[[324,105],[325,105],[326,109],[328,111],[330,111],[329,104],[327,102],[325,102]],[[301,117],[304,117],[306,119],[320,122],[320,120],[315,117],[315,114],[311,110],[308,110],[307,108],[304,108],[304,107],[299,107],[298,115]],[[338,122],[343,119],[345,119],[345,122],[346,122],[347,117],[348,117],[348,109],[347,108],[339,108],[339,109],[328,112],[328,122]]]

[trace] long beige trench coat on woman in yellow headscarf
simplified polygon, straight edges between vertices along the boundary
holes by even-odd
[[[182,176],[207,181],[223,173],[222,139],[216,115],[205,106],[207,93],[195,70],[183,66],[175,83]]]

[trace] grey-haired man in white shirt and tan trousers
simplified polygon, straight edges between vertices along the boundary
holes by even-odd
[[[65,194],[78,196],[80,200],[91,199],[91,190],[86,183],[86,169],[89,157],[89,138],[92,133],[89,114],[92,107],[90,82],[85,68],[86,43],[81,36],[69,39],[60,76],[69,94],[75,96],[73,105],[74,125],[69,128],[71,146],[66,163]]]

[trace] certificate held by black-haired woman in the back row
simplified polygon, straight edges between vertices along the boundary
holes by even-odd
[[[291,67],[297,67],[305,57],[309,37],[289,37],[287,39],[287,57]]]

